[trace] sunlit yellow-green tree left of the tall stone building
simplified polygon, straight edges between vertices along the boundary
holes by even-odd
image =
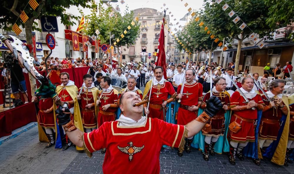
[[[97,6],[99,7],[99,15],[96,14]],[[133,12],[128,11],[128,8],[123,16],[119,12],[116,12],[110,20],[108,15],[111,13],[112,9],[110,7],[104,8],[102,2],[98,5],[92,3],[90,8],[91,14],[85,16],[85,19],[89,19],[88,25],[83,32],[86,35],[91,36],[97,29],[99,29],[100,34],[98,35],[98,39],[100,40],[100,43],[109,44],[109,32],[111,32],[111,35],[114,34],[115,36],[111,39],[112,44],[116,42],[116,39],[120,40],[115,45],[119,52],[120,46],[129,46],[140,34],[140,24],[137,21],[134,21]],[[80,12],[83,14],[82,11]],[[131,25],[132,21],[135,22],[134,26]],[[130,30],[127,29],[128,26],[131,26]],[[125,30],[127,31],[126,34],[123,33]],[[124,35],[123,38],[121,38],[121,34]]]

